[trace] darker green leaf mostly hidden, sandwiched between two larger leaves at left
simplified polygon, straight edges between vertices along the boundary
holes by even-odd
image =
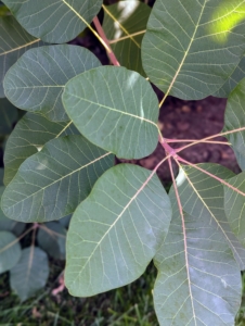
[[[25,114],[7,141],[4,184],[9,185],[21,164],[40,151],[49,140],[73,134],[79,133],[72,122],[54,123],[39,114]]]

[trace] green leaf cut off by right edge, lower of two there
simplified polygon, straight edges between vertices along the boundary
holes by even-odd
[[[224,187],[224,211],[232,230],[245,246],[245,172],[227,180],[234,189]],[[237,192],[237,189],[240,192]],[[244,195],[242,195],[243,192]]]

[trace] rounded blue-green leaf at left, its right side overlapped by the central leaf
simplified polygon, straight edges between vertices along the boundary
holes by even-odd
[[[61,100],[65,84],[100,65],[92,52],[77,46],[31,49],[9,70],[3,83],[5,96],[20,109],[51,121],[67,121]]]

